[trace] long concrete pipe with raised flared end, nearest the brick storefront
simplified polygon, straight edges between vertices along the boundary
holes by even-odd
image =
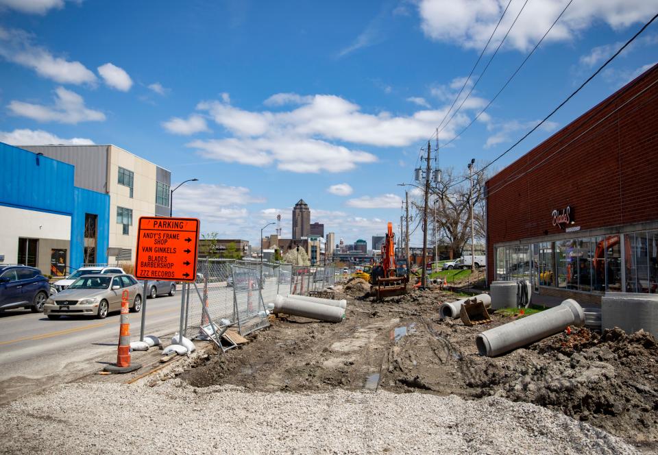
[[[493,357],[557,334],[569,325],[582,327],[585,312],[578,302],[564,302],[532,316],[482,332],[475,339],[480,356]]]

